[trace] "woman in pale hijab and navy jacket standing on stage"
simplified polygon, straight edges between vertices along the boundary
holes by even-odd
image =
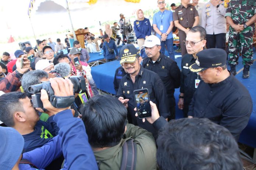
[[[141,49],[145,39],[151,35],[151,24],[149,19],[144,17],[143,11],[139,9],[137,19],[134,21],[134,31],[137,37],[139,48]]]

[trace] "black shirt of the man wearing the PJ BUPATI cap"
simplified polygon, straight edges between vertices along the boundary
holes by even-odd
[[[245,86],[232,74],[225,80],[199,83],[189,105],[189,116],[208,118],[226,127],[238,141],[252,113],[252,98]]]

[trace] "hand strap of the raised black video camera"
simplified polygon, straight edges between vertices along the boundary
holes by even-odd
[[[50,102],[53,107],[56,108],[65,108],[71,106],[71,104],[75,101],[75,96],[51,96]]]

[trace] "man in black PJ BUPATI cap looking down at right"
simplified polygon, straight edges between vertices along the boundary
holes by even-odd
[[[196,63],[189,66],[202,81],[189,105],[189,118],[208,118],[226,127],[238,141],[252,113],[248,90],[227,70],[227,52],[210,48],[196,54]]]

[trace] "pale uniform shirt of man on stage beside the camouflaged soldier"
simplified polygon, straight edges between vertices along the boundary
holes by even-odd
[[[221,3],[218,8],[210,2],[205,4],[202,12],[201,26],[206,29],[206,34],[213,35],[213,33],[227,32],[226,10],[224,3]]]

